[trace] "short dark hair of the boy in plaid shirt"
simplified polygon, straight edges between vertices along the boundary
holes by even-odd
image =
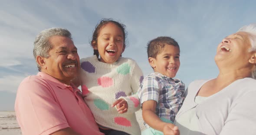
[[[156,58],[157,55],[163,51],[163,48],[166,44],[176,46],[180,49],[179,44],[171,37],[160,36],[148,42],[148,45],[147,45],[148,58],[149,57]]]

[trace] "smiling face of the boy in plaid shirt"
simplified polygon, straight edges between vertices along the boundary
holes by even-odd
[[[156,58],[149,57],[148,61],[155,72],[167,77],[175,77],[180,67],[180,49],[174,45],[165,45]]]

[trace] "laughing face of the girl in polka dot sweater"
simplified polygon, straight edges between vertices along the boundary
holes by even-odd
[[[102,27],[97,41],[93,48],[98,50],[101,62],[114,63],[125,51],[123,32],[114,23],[107,23]]]

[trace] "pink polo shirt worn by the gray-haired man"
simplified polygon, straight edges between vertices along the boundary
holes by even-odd
[[[67,127],[81,135],[103,135],[80,90],[43,72],[21,82],[15,112],[23,135],[49,135]]]

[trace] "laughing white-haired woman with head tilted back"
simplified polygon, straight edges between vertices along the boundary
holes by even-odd
[[[195,80],[164,135],[256,135],[256,24],[243,26],[217,47],[220,73]]]

